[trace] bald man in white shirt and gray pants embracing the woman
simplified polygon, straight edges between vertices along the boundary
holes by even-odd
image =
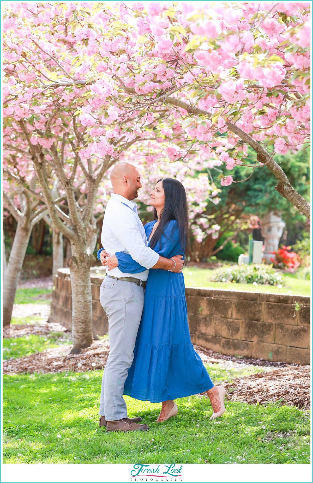
[[[137,424],[140,417],[127,417],[123,398],[124,383],[134,357],[137,332],[142,316],[144,286],[149,269],[180,272],[184,261],[181,256],[171,259],[159,256],[148,247],[137,205],[139,171],[131,164],[118,163],[112,170],[113,193],[106,207],[101,243],[109,254],[129,253],[147,270],[136,273],[136,278],[122,273],[117,267],[108,271],[100,287],[100,303],[109,320],[110,354],[103,372],[100,395],[100,426],[107,431],[146,431],[146,424]],[[99,252],[98,252],[99,253]],[[173,270],[173,260],[176,266]],[[101,262],[103,262],[103,257]]]

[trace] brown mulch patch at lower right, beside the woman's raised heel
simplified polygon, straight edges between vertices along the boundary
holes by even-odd
[[[286,366],[222,384],[232,400],[248,404],[280,401],[281,406],[311,407],[310,366]]]

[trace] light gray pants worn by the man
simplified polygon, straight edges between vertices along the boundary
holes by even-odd
[[[109,319],[110,341],[99,408],[100,416],[104,416],[106,421],[127,417],[123,391],[134,358],[143,302],[144,288],[132,282],[105,277],[101,284],[100,303]]]

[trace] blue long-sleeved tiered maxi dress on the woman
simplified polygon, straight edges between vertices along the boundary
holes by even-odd
[[[147,239],[155,223],[145,225]],[[154,251],[166,258],[184,255],[176,220],[168,223],[164,233]],[[122,272],[142,271],[130,255],[118,252],[116,256]],[[150,269],[124,394],[162,402],[198,394],[213,385],[190,340],[183,273]]]

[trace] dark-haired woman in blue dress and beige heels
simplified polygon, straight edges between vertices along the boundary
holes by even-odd
[[[162,178],[150,195],[155,221],[144,226],[149,246],[160,256],[171,258],[184,253],[187,257],[189,223],[184,186],[178,180]],[[115,255],[122,272],[142,271],[130,255]],[[177,414],[174,399],[205,391],[213,407],[211,419],[221,416],[226,391],[214,386],[191,343],[184,275],[150,269],[124,394],[142,401],[162,402],[157,418],[162,422]]]

